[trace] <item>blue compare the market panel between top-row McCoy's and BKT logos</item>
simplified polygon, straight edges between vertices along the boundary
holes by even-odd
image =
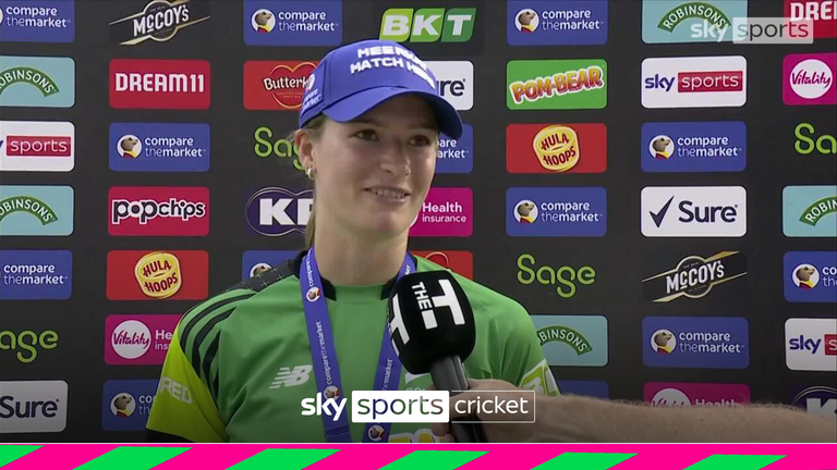
[[[244,1],[248,46],[337,46],[342,40],[342,1]]]

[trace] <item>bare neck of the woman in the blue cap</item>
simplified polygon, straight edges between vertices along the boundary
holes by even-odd
[[[320,275],[331,284],[385,284],[398,274],[407,252],[407,233],[387,239],[363,238],[328,225],[317,223],[314,246]]]

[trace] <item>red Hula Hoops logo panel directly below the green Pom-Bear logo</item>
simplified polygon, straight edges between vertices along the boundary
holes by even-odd
[[[604,173],[607,126],[602,123],[509,124],[509,173]]]

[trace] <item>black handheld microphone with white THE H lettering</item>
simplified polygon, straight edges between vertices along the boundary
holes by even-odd
[[[387,323],[392,348],[410,373],[429,372],[439,391],[469,388],[462,361],[476,343],[474,311],[450,272],[402,276],[389,297]],[[487,442],[482,425],[456,421],[450,428],[458,442]]]

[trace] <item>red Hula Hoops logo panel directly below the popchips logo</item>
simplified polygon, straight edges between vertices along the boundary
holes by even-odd
[[[108,252],[110,300],[203,300],[209,253],[198,250]]]

